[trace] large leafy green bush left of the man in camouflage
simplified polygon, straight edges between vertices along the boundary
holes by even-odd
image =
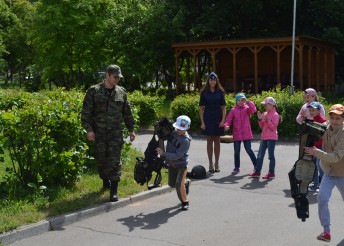
[[[73,184],[81,174],[87,145],[80,124],[81,97],[77,93],[36,94],[21,108],[0,114],[0,147],[7,149],[20,183]]]

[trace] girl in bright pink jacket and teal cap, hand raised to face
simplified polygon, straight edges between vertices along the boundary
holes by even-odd
[[[229,111],[224,123],[225,130],[233,127],[233,146],[234,146],[234,169],[232,174],[240,172],[240,145],[244,143],[244,148],[250,156],[253,166],[256,166],[257,158],[251,148],[253,139],[250,117],[257,109],[252,101],[247,100],[244,93],[235,96],[236,105]]]

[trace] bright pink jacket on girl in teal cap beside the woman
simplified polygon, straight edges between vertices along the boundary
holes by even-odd
[[[242,107],[234,106],[228,113],[225,126],[233,125],[233,140],[250,140],[253,139],[250,117],[257,111],[252,101],[247,101]]]

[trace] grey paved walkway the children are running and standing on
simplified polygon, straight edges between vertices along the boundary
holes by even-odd
[[[144,151],[150,134],[137,137],[134,145]],[[259,143],[252,144],[255,153]],[[193,180],[189,199],[190,210],[181,211],[174,190],[162,187],[144,193],[116,209],[107,203],[97,216],[79,212],[75,223],[56,223],[54,231],[14,242],[13,246],[40,245],[344,245],[343,200],[334,190],[330,202],[332,241],[316,240],[322,228],[317,216],[316,194],[310,193],[310,218],[302,222],[296,216],[290,197],[288,172],[296,161],[298,145],[279,142],[276,146],[276,178],[252,179],[248,173],[252,164],[242,147],[241,173],[230,175],[233,169],[233,145],[221,144],[220,173],[204,180]],[[190,149],[190,169],[194,165],[207,167],[206,142],[195,138]],[[267,171],[267,157],[263,174]],[[163,175],[166,175],[165,173]],[[154,192],[154,190],[153,190]],[[148,195],[151,194],[151,195]],[[137,199],[137,200],[135,200]],[[32,229],[31,229],[32,230]],[[12,235],[14,236],[14,235]],[[0,240],[1,241],[1,240]]]

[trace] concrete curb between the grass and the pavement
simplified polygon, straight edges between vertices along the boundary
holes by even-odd
[[[162,186],[162,187],[158,187],[152,190],[143,191],[129,198],[120,199],[118,202],[107,202],[105,204],[102,204],[96,207],[86,208],[74,213],[68,213],[68,214],[63,214],[60,216],[48,218],[46,220],[43,220],[34,224],[20,227],[14,231],[0,234],[0,243],[2,243],[3,245],[8,245],[15,241],[18,241],[27,237],[32,237],[32,236],[35,236],[47,231],[59,230],[63,226],[87,219],[92,216],[99,215],[102,213],[107,213],[117,208],[124,207],[138,201],[143,201],[145,199],[170,192],[171,190],[172,189],[169,186]]]

